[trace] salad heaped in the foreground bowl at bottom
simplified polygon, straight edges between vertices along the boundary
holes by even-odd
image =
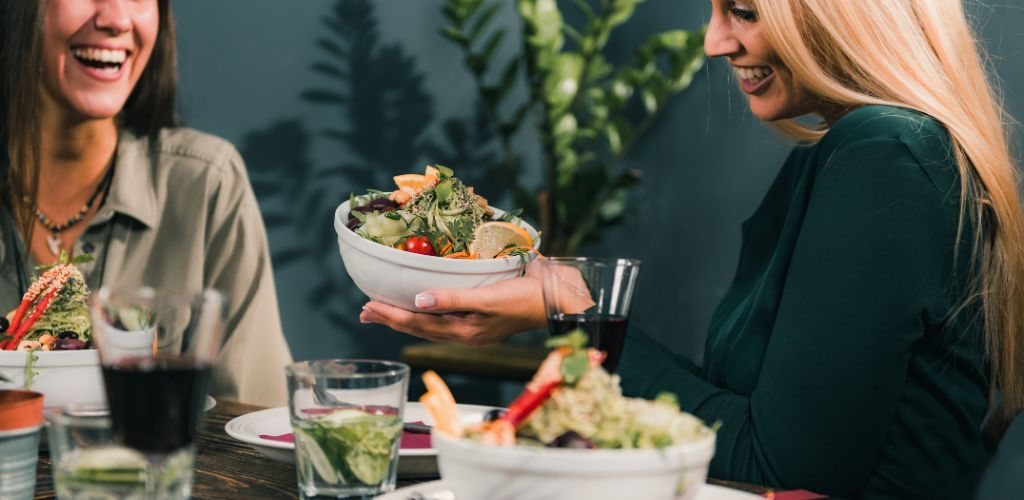
[[[618,376],[601,368],[604,353],[586,345],[581,330],[550,339],[553,350],[522,394],[479,425],[462,425],[452,392],[434,372],[423,376],[427,392],[420,402],[438,431],[492,446],[662,449],[715,432],[680,411],[670,393],[654,401],[623,397]]]

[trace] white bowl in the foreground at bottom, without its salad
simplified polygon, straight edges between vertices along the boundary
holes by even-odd
[[[715,434],[662,450],[493,447],[433,433],[455,498],[691,500],[708,480]]]

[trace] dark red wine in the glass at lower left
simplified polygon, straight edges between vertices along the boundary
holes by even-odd
[[[209,382],[209,364],[181,357],[103,366],[115,437],[148,453],[190,445],[199,432]]]

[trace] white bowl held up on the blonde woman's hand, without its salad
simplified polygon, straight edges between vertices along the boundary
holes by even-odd
[[[366,240],[349,230],[348,203],[342,203],[334,214],[338,247],[345,270],[355,286],[370,298],[409,310],[423,311],[414,301],[420,292],[441,288],[477,288],[492,285],[519,275],[523,262],[519,258],[447,259],[397,250]],[[503,211],[495,209],[495,215]],[[538,245],[537,230],[517,220]],[[530,253],[527,259],[536,258]]]

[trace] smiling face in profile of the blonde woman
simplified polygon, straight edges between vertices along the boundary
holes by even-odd
[[[705,53],[726,57],[751,112],[771,122],[815,113],[819,100],[793,78],[761,30],[758,11],[746,0],[711,0]]]

